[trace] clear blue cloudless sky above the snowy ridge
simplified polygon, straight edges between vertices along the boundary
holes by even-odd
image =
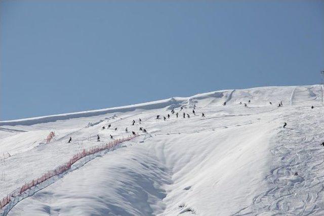
[[[0,119],[320,82],[324,1],[0,1]]]

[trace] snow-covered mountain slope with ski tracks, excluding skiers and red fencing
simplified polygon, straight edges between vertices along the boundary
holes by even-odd
[[[107,142],[109,135],[127,136],[128,127],[141,136],[69,172],[9,214],[320,215],[322,106],[320,85],[265,87],[2,121],[0,195],[96,145],[97,135]],[[46,144],[50,131],[56,136]]]

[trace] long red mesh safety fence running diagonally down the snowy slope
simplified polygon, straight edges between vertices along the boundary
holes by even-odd
[[[79,166],[82,166],[94,159],[95,154],[98,152],[102,152],[105,150],[113,151],[118,148],[120,143],[125,141],[132,140],[139,135],[132,135],[127,138],[122,138],[118,140],[114,140],[112,142],[96,145],[89,149],[83,149],[82,151],[74,154],[65,164],[52,169],[43,176],[38,177],[37,179],[33,179],[32,181],[25,183],[22,187],[17,188],[13,192],[7,194],[6,197],[0,200],[0,215],[5,216],[8,212],[21,200],[33,195],[39,190],[46,188],[47,186],[53,184],[58,179],[62,178],[66,171],[73,170],[72,165],[76,162],[80,162]],[[81,161],[80,159],[85,158],[85,160]]]

